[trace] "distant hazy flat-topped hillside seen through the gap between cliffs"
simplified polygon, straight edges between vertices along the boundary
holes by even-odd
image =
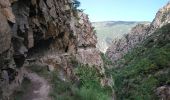
[[[135,22],[135,21],[106,21],[92,23],[97,32],[98,44],[97,47],[105,52],[112,40],[119,39],[123,34],[128,33],[132,27],[139,23],[148,22]]]

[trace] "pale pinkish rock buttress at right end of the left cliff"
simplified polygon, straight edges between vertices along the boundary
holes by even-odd
[[[80,28],[78,29],[78,49],[76,58],[80,63],[103,66],[103,61],[100,57],[100,51],[96,49],[97,37],[92,24],[88,20],[88,16],[82,12],[79,14]]]

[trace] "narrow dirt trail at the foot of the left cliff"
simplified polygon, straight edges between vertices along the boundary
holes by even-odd
[[[33,72],[26,72],[25,75],[31,81],[31,85],[26,90],[23,100],[51,100],[49,98],[50,85],[46,79]]]

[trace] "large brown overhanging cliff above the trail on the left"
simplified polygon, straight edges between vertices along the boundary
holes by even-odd
[[[73,57],[102,67],[95,32],[74,0],[0,0],[0,20],[0,99],[20,84],[16,77],[31,62],[62,67],[68,76]]]

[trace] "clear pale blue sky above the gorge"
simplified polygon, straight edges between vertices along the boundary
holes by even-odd
[[[90,21],[152,21],[169,0],[79,0]]]

